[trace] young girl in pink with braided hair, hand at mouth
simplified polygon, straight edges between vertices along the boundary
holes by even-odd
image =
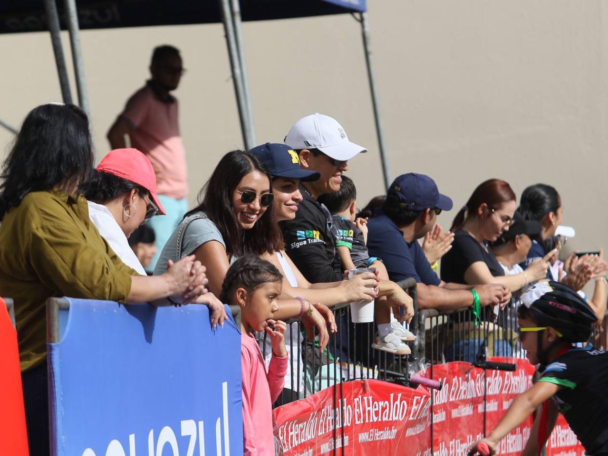
[[[283,276],[271,263],[244,255],[230,266],[222,285],[222,302],[241,308],[241,376],[243,381],[243,451],[245,456],[274,455],[272,402],[283,390],[287,371],[286,325],[273,320]],[[272,359],[266,365],[255,331],[266,331]]]

